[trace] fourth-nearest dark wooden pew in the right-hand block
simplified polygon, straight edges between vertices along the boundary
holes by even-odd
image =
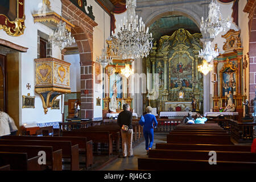
[[[230,135],[168,134],[167,143],[232,144]]]

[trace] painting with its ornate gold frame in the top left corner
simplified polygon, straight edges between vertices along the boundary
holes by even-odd
[[[0,1],[0,30],[10,36],[20,36],[24,33],[24,0]]]

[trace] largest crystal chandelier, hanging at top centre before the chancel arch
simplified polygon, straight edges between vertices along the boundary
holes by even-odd
[[[152,34],[148,33],[142,18],[138,21],[135,13],[136,0],[126,0],[127,19],[121,20],[117,27],[117,34],[113,35],[112,42],[115,55],[122,59],[137,59],[147,57],[152,48]]]

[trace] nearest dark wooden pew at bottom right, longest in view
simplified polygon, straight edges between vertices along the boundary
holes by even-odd
[[[162,171],[256,171],[256,163],[217,161],[216,165],[210,165],[208,160],[138,158],[138,169]]]

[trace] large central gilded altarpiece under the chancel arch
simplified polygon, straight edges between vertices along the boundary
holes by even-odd
[[[197,111],[203,110],[203,76],[197,71],[201,34],[190,34],[180,28],[171,36],[165,35],[154,43],[146,64],[147,105],[159,111],[192,110],[192,99],[197,101]],[[158,97],[155,97],[158,96]]]

